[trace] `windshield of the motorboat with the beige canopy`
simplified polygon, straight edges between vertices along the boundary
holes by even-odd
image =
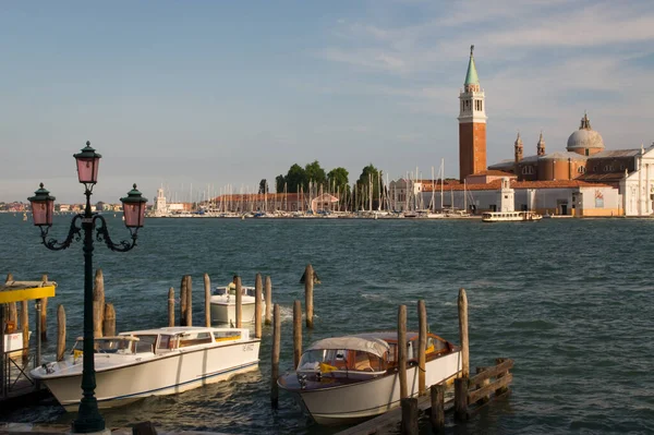
[[[349,349],[313,349],[304,352],[298,372],[385,372],[386,361],[373,353]]]

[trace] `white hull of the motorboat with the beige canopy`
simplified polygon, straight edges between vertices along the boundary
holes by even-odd
[[[448,380],[461,371],[460,352],[452,352],[426,363],[425,385]],[[407,368],[408,392],[417,396],[417,366]],[[280,385],[283,388],[283,385]],[[290,390],[316,423],[351,424],[383,414],[400,406],[398,374],[332,388]]]

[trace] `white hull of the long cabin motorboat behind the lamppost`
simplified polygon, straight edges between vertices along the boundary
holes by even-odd
[[[173,352],[119,367],[101,367],[96,358],[98,408],[148,397],[183,392],[258,366],[259,340]],[[82,398],[82,373],[40,379],[57,400],[75,411]]]

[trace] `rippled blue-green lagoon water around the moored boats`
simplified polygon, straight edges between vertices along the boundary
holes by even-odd
[[[69,217],[51,232],[62,239]],[[126,235],[109,218],[113,239]],[[193,276],[196,324],[204,318],[204,273],[213,286],[239,274],[252,285],[272,277],[281,305],[281,370],[292,364],[292,303],[311,262],[323,283],[314,294],[315,329],[304,343],[327,336],[393,328],[407,304],[416,328],[416,301],[427,304],[429,329],[458,342],[457,294],[470,305],[471,366],[512,358],[512,394],[457,433],[654,432],[654,221],[558,220],[482,223],[414,220],[148,219],[137,249],[114,253],[96,243],[106,298],[117,329],[167,323],[167,294]],[[83,254],[76,243],[50,252],[21,216],[0,215],[0,274],[59,283],[48,305],[51,355],[56,309],[66,309],[69,339],[82,335]],[[178,293],[179,294],[179,293]],[[270,333],[264,328],[258,372],[178,396],[148,398],[104,411],[110,427],[150,420],[164,430],[227,433],[331,433],[306,421],[282,394],[269,403]],[[2,421],[70,422],[57,406],[2,413]],[[427,427],[422,427],[427,432]]]

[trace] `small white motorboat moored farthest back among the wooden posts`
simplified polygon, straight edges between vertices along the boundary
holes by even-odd
[[[242,324],[254,323],[255,309],[255,289],[254,287],[241,287],[241,318]],[[218,287],[214,290],[214,294],[209,299],[211,310],[211,322],[228,324],[233,326],[237,324],[237,290],[231,283],[227,287]],[[262,292],[262,316],[266,312],[266,302]]]

